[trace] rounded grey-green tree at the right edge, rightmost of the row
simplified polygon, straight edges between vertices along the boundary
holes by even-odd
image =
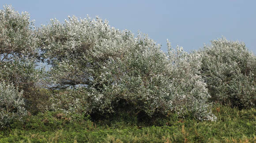
[[[256,56],[244,43],[220,38],[199,51],[201,75],[213,100],[250,108],[256,104]]]

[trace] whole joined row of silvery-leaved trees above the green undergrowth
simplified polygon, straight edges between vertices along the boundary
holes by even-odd
[[[163,53],[146,35],[134,37],[98,17],[51,19],[36,30],[28,13],[10,6],[0,18],[0,81],[24,90],[32,113],[114,113],[122,104],[147,116],[215,120],[212,101],[256,104],[256,57],[242,43],[223,38],[186,53],[167,41]],[[36,68],[39,60],[49,71]]]

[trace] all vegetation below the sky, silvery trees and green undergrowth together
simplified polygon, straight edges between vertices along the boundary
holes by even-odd
[[[255,142],[255,54],[226,38],[166,43],[98,17],[35,27],[4,6],[0,143]]]

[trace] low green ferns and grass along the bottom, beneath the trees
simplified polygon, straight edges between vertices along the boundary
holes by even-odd
[[[92,119],[60,112],[39,113],[0,131],[0,143],[256,143],[256,109],[215,105],[215,122],[118,115]]]

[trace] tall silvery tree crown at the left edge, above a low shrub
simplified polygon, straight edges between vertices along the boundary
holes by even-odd
[[[0,79],[28,88],[38,77],[35,70],[36,37],[29,14],[11,6],[0,10]]]

